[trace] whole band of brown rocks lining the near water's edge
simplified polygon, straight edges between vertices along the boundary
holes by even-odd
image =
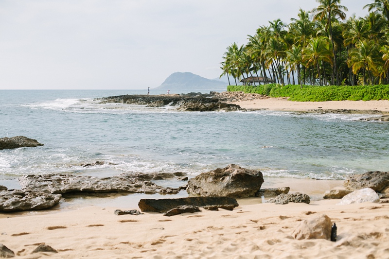
[[[153,182],[153,180],[166,179],[188,182],[178,188],[161,187]],[[273,199],[268,202],[275,204],[310,203],[309,195],[299,192],[289,193],[289,187],[261,189],[264,177],[260,171],[241,168],[233,164],[225,168],[200,173],[189,180],[186,174],[181,172],[122,173],[105,178],[46,174],[25,175],[19,178],[19,183],[21,190],[8,190],[6,187],[0,186],[0,212],[52,208],[68,194],[94,196],[98,193],[108,195],[160,193],[174,195],[181,190],[186,190],[190,197],[178,198],[178,200],[177,198],[141,199],[139,207],[141,211],[158,212],[168,212],[174,209],[168,215],[177,215],[198,211],[198,207],[209,210],[217,210],[219,207],[232,210],[233,207],[238,206],[236,198],[247,197],[272,197]],[[191,196],[194,197],[191,198]],[[323,198],[342,199],[344,204],[366,201],[379,202],[380,198],[389,198],[389,173],[368,172],[361,175],[350,175],[344,181],[344,189],[329,190],[324,193]]]

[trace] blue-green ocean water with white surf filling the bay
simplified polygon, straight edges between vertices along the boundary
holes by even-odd
[[[45,173],[193,177],[231,163],[260,170],[265,181],[339,180],[389,170],[389,123],[359,120],[372,115],[178,112],[94,101],[146,91],[0,90],[0,138],[25,136],[44,144],[0,150],[0,185],[18,189],[18,177]],[[83,167],[96,161],[105,164]]]

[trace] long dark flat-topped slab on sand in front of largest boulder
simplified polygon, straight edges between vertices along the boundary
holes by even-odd
[[[239,206],[238,202],[230,197],[187,197],[177,199],[141,199],[138,203],[141,211],[164,213],[175,207],[191,205],[196,207],[206,206]]]

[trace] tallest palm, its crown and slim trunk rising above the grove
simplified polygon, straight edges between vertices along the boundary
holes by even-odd
[[[336,74],[336,84],[339,85],[339,75],[336,67],[336,52],[334,44],[334,36],[332,30],[332,18],[340,17],[342,20],[346,19],[346,14],[343,11],[348,11],[346,6],[339,5],[340,0],[316,0],[319,3],[318,8],[313,9],[316,13],[314,20],[326,20],[326,28],[329,31],[329,35],[332,43],[332,53],[334,58],[334,72]]]

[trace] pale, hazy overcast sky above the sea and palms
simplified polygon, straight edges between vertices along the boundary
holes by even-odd
[[[341,0],[363,17],[373,0]],[[315,0],[0,0],[0,89],[145,89],[215,79],[223,53]]]

